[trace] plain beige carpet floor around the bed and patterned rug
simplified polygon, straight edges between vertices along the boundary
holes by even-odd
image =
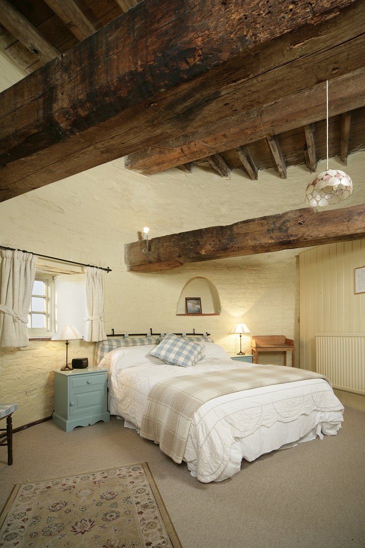
[[[63,432],[47,421],[0,448],[0,507],[15,483],[147,461],[183,548],[363,548],[365,413],[345,409],[322,441],[242,463],[221,483],[200,483],[123,421]]]

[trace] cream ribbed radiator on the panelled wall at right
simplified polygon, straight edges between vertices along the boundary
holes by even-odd
[[[334,388],[365,395],[365,333],[316,334],[316,365]]]

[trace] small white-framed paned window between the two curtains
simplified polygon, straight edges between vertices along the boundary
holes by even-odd
[[[36,274],[28,314],[28,337],[49,337],[55,332],[55,292],[52,275]]]

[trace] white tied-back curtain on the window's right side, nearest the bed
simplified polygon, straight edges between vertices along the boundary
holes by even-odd
[[[92,266],[84,267],[86,273],[86,322],[84,340],[97,342],[106,340],[104,330],[104,275],[105,270]]]

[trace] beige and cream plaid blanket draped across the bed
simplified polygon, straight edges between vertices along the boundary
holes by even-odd
[[[194,413],[203,403],[241,390],[315,378],[329,383],[326,376],[319,373],[284,366],[226,369],[173,377],[155,384],[150,390],[140,435],[159,443],[166,455],[181,463]]]

